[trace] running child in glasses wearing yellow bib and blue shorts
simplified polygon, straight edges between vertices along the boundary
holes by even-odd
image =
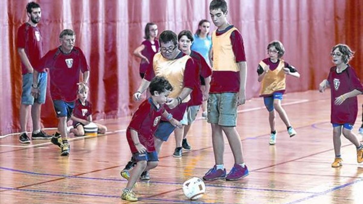
[[[275,111],[284,121],[290,137],[296,135],[296,131],[291,126],[285,110],[281,106],[282,95],[286,89],[286,75],[300,77],[297,70],[287,64],[281,57],[285,53],[285,48],[280,41],[272,41],[267,46],[269,58],[262,60],[258,64],[258,82],[261,82],[260,96],[264,97],[264,103],[269,111],[269,123],[271,128],[269,144],[276,144],[277,132],[275,130]]]

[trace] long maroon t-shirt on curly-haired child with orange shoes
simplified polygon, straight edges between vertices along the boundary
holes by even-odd
[[[354,69],[348,65],[341,73],[337,73],[337,66],[330,68],[327,78],[330,84],[331,93],[331,123],[354,125],[358,115],[358,99],[357,97],[347,98],[341,105],[335,105],[335,98],[348,93],[354,89],[363,93],[362,83],[359,81]]]

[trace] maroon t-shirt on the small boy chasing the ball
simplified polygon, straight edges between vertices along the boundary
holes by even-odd
[[[163,106],[160,106],[158,109],[151,98],[148,98],[140,104],[126,130],[127,142],[132,153],[138,151],[131,138],[131,129],[138,132],[139,141],[146,148],[147,152],[155,151],[154,133],[156,128],[158,128],[161,115],[164,111]]]

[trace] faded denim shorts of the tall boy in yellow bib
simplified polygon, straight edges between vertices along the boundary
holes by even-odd
[[[236,126],[237,94],[232,92],[209,94],[208,123],[217,123],[220,126]]]

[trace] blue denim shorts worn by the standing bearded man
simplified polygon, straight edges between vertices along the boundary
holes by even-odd
[[[44,104],[48,74],[46,72],[38,73],[38,87],[39,87],[40,95],[36,99],[34,99],[34,97],[31,94],[32,84],[33,84],[33,73],[24,74],[22,78],[23,78],[23,80],[22,80],[23,81],[23,86],[22,86],[23,91],[21,93],[21,104],[33,105],[34,102],[37,102],[39,104]]]

